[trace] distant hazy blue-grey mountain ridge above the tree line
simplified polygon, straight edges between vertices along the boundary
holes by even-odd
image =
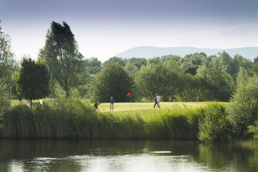
[[[195,52],[205,52],[206,55],[215,55],[218,52],[223,52],[225,50],[229,53],[230,56],[235,54],[240,54],[244,58],[253,60],[258,55],[258,47],[244,47],[244,48],[231,48],[231,49],[211,49],[211,48],[194,48],[194,47],[135,47],[130,48],[124,52],[121,52],[115,56],[122,58],[131,58],[131,57],[140,57],[140,58],[152,58],[154,56],[163,56],[163,55],[180,55],[184,57],[187,54]]]

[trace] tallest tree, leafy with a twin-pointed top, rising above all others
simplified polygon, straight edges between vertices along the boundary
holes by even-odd
[[[68,93],[69,88],[75,86],[83,56],[78,51],[78,44],[67,23],[52,21],[39,56],[46,59],[53,80]]]

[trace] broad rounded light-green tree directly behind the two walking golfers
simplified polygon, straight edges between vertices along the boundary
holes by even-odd
[[[155,94],[161,94],[162,101],[174,101],[182,87],[183,74],[178,69],[178,64],[173,60],[142,66],[135,78],[139,96],[145,97],[147,101],[153,101]]]

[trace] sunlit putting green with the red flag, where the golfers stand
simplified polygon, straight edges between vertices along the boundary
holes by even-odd
[[[205,106],[208,103],[213,101],[205,101],[205,102],[160,102],[161,108],[153,108],[154,102],[147,103],[115,103],[114,111],[112,113],[141,113],[141,114],[154,114],[154,113],[162,113],[166,112],[167,109],[173,109],[175,106],[179,106],[182,108],[195,108],[199,106]],[[218,102],[223,104],[228,104],[227,102]],[[98,109],[102,112],[110,111],[110,103],[101,103],[98,106]],[[92,104],[93,105],[93,104]]]

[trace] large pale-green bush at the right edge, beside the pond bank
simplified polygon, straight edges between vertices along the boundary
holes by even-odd
[[[258,76],[250,76],[247,70],[240,68],[236,81],[237,90],[227,109],[228,120],[235,136],[247,137],[250,136],[246,133],[247,127],[258,120]]]

